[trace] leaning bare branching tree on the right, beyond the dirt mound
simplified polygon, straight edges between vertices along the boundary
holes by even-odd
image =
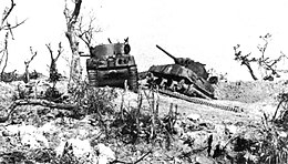
[[[260,52],[260,57],[256,58],[256,57],[251,57],[251,52],[247,53],[247,54],[243,54],[243,52],[239,50],[240,45],[237,44],[236,47],[234,47],[234,55],[235,55],[235,60],[239,61],[241,65],[246,65],[253,80],[258,80],[258,78],[255,75],[255,72],[251,68],[251,63],[257,63],[258,66],[265,71],[265,75],[261,76],[263,80],[274,80],[274,78],[280,78],[280,72],[285,72],[287,73],[288,70],[278,70],[277,69],[277,64],[282,61],[284,59],[287,59],[287,55],[282,52],[281,55],[279,55],[276,59],[270,59],[268,57],[266,57],[266,50],[267,47],[269,44],[271,34],[267,33],[265,35],[260,35],[260,39],[263,39],[264,44],[263,45],[258,45],[258,50]]]

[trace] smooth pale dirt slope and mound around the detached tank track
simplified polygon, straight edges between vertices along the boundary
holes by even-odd
[[[278,105],[279,93],[288,91],[286,81],[279,82],[220,82],[215,85],[215,96],[213,101],[218,104],[228,106],[240,106],[244,109],[241,113],[235,113],[214,109],[205,105],[194,104],[184,100],[178,100],[171,96],[160,95],[160,109],[165,113],[171,104],[176,104],[178,112],[191,114],[199,114],[205,120],[213,122],[238,122],[238,121],[255,121],[263,116],[263,113],[272,114]],[[131,93],[133,94],[133,93]],[[133,102],[135,95],[127,100]]]

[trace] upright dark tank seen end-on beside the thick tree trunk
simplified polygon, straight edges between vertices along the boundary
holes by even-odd
[[[91,48],[86,60],[90,85],[124,88],[126,81],[130,90],[137,91],[137,66],[130,51],[128,39]]]

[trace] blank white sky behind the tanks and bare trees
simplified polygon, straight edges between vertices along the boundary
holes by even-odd
[[[16,40],[10,41],[8,71],[17,66],[23,72],[23,61],[31,58],[29,47],[32,47],[38,55],[31,62],[31,71],[47,72],[50,54],[45,43],[56,51],[62,41],[65,55],[70,55],[64,37],[64,0],[16,0],[16,3],[10,22],[16,16],[18,20],[28,20],[14,30]],[[82,14],[88,18],[94,13],[97,18],[95,25],[103,32],[95,35],[95,44],[107,43],[107,38],[116,42],[130,37],[131,53],[140,71],[173,62],[156,49],[158,44],[175,57],[187,57],[206,63],[207,69],[227,72],[229,80],[251,80],[247,69],[233,60],[233,47],[239,43],[246,52],[257,53],[259,35],[269,32],[272,41],[267,54],[275,58],[280,51],[288,54],[287,8],[287,0],[83,0]],[[66,62],[60,60],[58,65],[63,71]],[[85,58],[82,61],[85,63]]]

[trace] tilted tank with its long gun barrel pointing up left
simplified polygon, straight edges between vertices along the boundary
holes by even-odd
[[[171,57],[175,64],[152,65],[147,76],[151,86],[188,96],[215,99],[214,88],[208,81],[205,64],[188,58],[175,58],[160,45],[156,47]]]

